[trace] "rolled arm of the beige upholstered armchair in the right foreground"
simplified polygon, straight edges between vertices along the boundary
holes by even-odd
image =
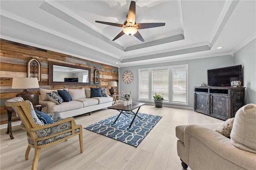
[[[246,167],[247,169],[255,167],[255,153],[236,148],[229,138],[210,128],[200,125],[187,125],[184,129],[184,145],[186,150],[189,150],[189,147],[193,145],[190,143],[190,138],[192,137],[198,139],[220,157],[234,162],[238,166]]]

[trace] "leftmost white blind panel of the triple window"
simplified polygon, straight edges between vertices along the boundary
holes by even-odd
[[[149,71],[139,72],[139,99],[148,100]]]

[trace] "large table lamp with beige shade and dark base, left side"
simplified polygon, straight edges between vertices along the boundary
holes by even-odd
[[[24,89],[22,93],[18,93],[16,97],[22,97],[24,100],[29,100],[33,103],[36,95],[30,93],[28,89],[39,88],[37,78],[13,78],[12,79],[12,89]]]

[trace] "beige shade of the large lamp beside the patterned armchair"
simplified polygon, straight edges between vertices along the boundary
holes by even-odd
[[[33,89],[39,88],[37,78],[13,78],[12,79],[12,89]]]

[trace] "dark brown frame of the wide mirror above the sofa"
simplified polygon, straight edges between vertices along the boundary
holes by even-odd
[[[71,67],[71,68],[76,68],[76,69],[83,69],[83,70],[88,70],[88,83],[82,83],[82,82],[60,82],[60,81],[53,81],[53,65],[59,65],[59,66],[64,66],[64,67]],[[71,65],[71,64],[66,64],[66,63],[58,63],[54,61],[49,61],[49,85],[91,85],[91,68],[89,67],[82,67],[79,65]]]

